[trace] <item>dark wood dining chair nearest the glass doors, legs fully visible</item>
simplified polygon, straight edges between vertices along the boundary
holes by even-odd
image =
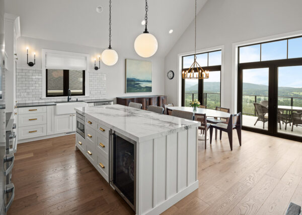
[[[238,139],[239,139],[239,145],[241,146],[241,113],[232,114],[229,118],[228,124],[217,123],[217,124],[211,125],[210,126],[210,144],[212,143],[212,134],[213,134],[214,128],[228,133],[231,151],[233,150],[233,130],[236,129],[237,134],[238,134]],[[221,140],[221,136],[220,136],[220,140]]]

